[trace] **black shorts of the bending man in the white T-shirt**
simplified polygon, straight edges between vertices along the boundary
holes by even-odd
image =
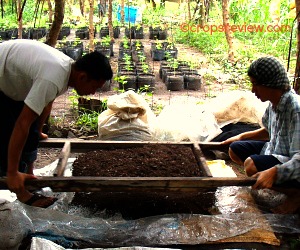
[[[2,116],[0,122],[0,176],[6,175],[8,144],[23,107],[23,101],[12,100],[0,91],[0,114]],[[38,143],[39,131],[37,121],[35,121],[29,130],[28,138],[22,151],[20,171],[25,172],[26,165],[36,160]]]

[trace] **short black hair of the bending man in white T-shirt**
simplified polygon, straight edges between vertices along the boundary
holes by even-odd
[[[98,51],[79,58],[75,62],[75,69],[86,72],[94,80],[110,80],[113,76],[108,58]]]

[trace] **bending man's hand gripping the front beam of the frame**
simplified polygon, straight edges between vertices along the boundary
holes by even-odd
[[[10,191],[16,193],[22,193],[25,191],[25,180],[26,179],[36,179],[34,175],[24,174],[21,172],[16,172],[15,174],[7,173],[7,186]]]

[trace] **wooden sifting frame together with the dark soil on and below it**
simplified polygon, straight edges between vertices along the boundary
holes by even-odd
[[[62,148],[54,177],[26,182],[28,189],[49,186],[76,192],[72,204],[108,215],[136,219],[169,213],[210,214],[219,186],[254,183],[247,178],[215,178],[202,150],[214,143],[47,140],[41,147]],[[72,177],[64,177],[70,152],[80,152]],[[0,188],[4,187],[0,182]]]

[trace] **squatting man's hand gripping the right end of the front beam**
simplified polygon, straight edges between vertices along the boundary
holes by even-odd
[[[253,189],[271,188],[277,177],[277,168],[269,168],[252,175],[252,177],[257,178],[256,183],[252,186]]]

